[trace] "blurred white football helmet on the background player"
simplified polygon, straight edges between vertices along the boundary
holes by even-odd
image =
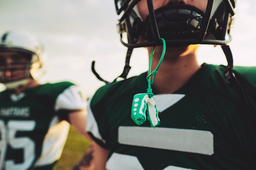
[[[20,63],[19,60],[15,62],[15,59],[12,63],[6,63],[1,56],[1,53],[5,52],[18,52],[28,55],[31,59],[27,63]],[[42,43],[33,34],[22,31],[4,33],[0,43],[0,83],[4,83],[7,88],[16,88],[26,84],[30,78],[38,79],[44,73],[43,53]],[[15,70],[26,70],[26,73],[22,77],[8,79],[6,75]]]

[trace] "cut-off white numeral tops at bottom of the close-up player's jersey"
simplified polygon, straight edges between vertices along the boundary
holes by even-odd
[[[144,170],[136,156],[113,153],[108,159],[108,170]],[[167,166],[164,170],[192,170],[178,166]]]

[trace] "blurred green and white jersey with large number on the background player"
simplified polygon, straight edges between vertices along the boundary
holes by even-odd
[[[70,82],[44,84],[20,95],[0,93],[0,169],[54,169],[67,139],[68,113],[84,109]]]

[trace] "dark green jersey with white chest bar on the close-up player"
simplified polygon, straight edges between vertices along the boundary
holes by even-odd
[[[101,87],[88,104],[87,130],[108,149],[108,170],[256,169],[256,114],[223,76],[203,64],[172,94],[156,94],[160,125],[131,118],[133,96],[146,93],[147,73]],[[256,109],[256,67],[235,67]],[[172,80],[169,80],[172,81]]]

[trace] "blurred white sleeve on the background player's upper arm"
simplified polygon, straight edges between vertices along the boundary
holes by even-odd
[[[80,91],[76,85],[71,85],[65,89],[56,99],[55,111],[64,110],[85,110],[86,102],[82,99]]]

